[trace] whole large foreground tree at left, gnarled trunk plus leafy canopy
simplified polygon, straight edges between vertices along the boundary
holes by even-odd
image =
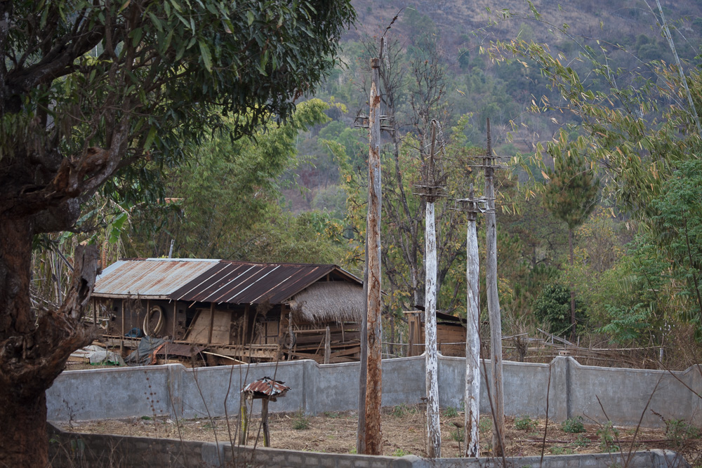
[[[75,229],[103,185],[161,196],[161,171],[223,118],[233,139],[286,119],[353,20],[348,0],[0,2],[0,464],[48,463],[45,391],[92,340],[95,250],[77,250],[60,309],[37,311],[32,238]]]

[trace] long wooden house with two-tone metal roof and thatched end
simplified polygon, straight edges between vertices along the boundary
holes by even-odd
[[[115,262],[93,300],[111,345],[148,335],[211,363],[357,360],[365,302],[362,281],[336,265],[165,258]]]

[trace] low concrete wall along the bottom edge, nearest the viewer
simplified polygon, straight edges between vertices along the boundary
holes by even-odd
[[[278,448],[232,447],[228,442],[180,441],[149,437],[79,434],[65,432],[49,424],[51,466],[153,466],[153,467],[329,467],[329,468],[486,468],[543,467],[592,468],[624,465],[618,453],[588,455],[548,455],[543,457],[436,458],[298,452]],[[626,457],[626,454],[624,454]],[[690,465],[670,450],[650,450],[631,454],[630,468],[687,468]]]

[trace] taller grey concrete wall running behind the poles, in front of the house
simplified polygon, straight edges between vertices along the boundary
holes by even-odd
[[[489,368],[488,361],[483,372],[489,373]],[[508,415],[544,417],[548,394],[548,417],[557,422],[582,415],[599,422],[637,424],[643,413],[644,426],[660,427],[663,421],[651,413],[654,410],[668,419],[702,425],[702,399],[694,393],[702,394],[702,368],[698,366],[668,373],[581,366],[572,358],[558,357],[549,364],[505,362],[503,373]],[[59,375],[47,392],[48,419],[235,415],[238,390],[264,376],[292,387],[287,396],[271,403],[272,412],[356,410],[358,375],[358,363],[319,365],[314,361],[72,370]],[[461,407],[464,375],[465,359],[439,357],[441,406]],[[489,413],[485,375],[482,377],[480,410]],[[423,356],[383,361],[383,406],[421,403],[423,396]]]

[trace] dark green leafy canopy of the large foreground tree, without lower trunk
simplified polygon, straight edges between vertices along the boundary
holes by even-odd
[[[70,227],[75,203],[62,222],[56,208],[65,212],[117,171],[116,183],[155,180],[221,115],[235,116],[234,138],[289,116],[333,67],[336,39],[354,18],[347,1],[0,9],[0,213],[48,209],[35,231]]]

